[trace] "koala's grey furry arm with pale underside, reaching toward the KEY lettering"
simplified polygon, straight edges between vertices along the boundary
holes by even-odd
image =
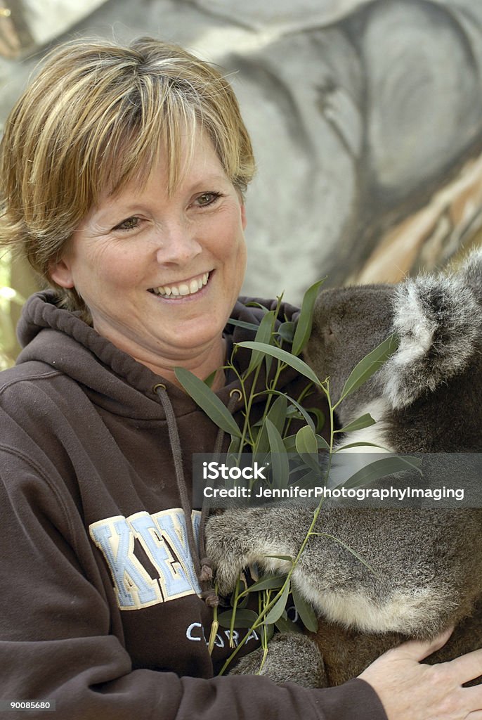
[[[289,562],[268,556],[296,557],[312,517],[286,504],[210,518],[206,546],[219,592],[228,594],[254,562],[268,572],[289,570]],[[472,552],[480,536],[477,510],[325,507],[315,530],[292,581],[329,621],[430,637],[468,615],[480,596],[482,560]]]

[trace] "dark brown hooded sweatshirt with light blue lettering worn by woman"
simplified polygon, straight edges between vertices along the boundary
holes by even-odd
[[[258,325],[262,312],[237,302],[232,316]],[[228,325],[226,336],[232,346],[253,330]],[[17,366],[0,377],[0,698],[55,700],[59,720],[386,720],[363,680],[311,690],[216,677],[232,649],[220,629],[208,652],[212,610],[155,385],[174,411],[188,487],[191,454],[212,452],[217,427],[50,291],[27,302],[19,338]],[[248,361],[240,349],[240,368]],[[291,370],[283,383],[292,397],[303,387]],[[225,404],[234,387],[218,392]]]

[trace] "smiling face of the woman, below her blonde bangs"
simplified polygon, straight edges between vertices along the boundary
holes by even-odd
[[[155,371],[216,355],[245,274],[245,209],[209,138],[167,192],[165,161],[147,184],[104,194],[51,269],[75,287],[94,328]]]

